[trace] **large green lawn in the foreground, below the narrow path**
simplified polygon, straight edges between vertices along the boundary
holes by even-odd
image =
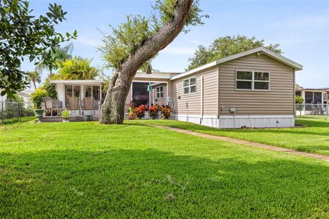
[[[329,218],[329,164],[141,121],[5,125],[0,218]]]

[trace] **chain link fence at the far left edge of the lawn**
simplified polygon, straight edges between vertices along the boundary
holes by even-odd
[[[0,101],[0,124],[15,123],[25,116],[34,116],[32,103]]]

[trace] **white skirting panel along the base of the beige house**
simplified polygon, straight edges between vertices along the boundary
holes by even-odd
[[[195,115],[173,115],[175,120],[196,123],[215,128],[271,128],[271,127],[294,127],[295,118],[293,115],[273,116],[200,116]]]

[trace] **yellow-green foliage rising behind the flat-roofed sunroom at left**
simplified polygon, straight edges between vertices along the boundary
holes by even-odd
[[[90,80],[97,77],[99,70],[90,66],[91,60],[81,57],[74,57],[72,60],[59,62],[58,73],[51,76],[51,79],[61,80]]]

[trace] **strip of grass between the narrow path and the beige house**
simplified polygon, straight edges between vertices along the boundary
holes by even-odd
[[[214,136],[226,136],[296,151],[329,155],[329,120],[325,120],[324,116],[304,116],[296,119],[296,123],[308,127],[280,129],[215,129],[175,120],[137,120],[134,123],[177,127]]]

